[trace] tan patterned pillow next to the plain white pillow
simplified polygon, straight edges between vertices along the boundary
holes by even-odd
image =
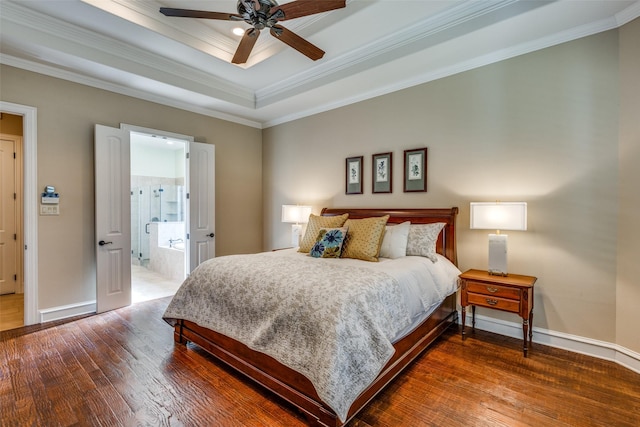
[[[344,226],[349,228],[342,248],[342,258],[363,261],[378,261],[380,245],[384,237],[384,227],[389,215],[373,218],[348,219]]]

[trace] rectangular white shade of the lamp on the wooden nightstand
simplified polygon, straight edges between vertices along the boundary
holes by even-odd
[[[526,202],[471,202],[471,229],[527,229]]]

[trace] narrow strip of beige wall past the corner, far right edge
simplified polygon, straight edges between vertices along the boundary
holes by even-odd
[[[640,352],[640,19],[620,29],[620,210],[617,340]]]

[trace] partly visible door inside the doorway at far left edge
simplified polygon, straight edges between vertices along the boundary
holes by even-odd
[[[17,284],[16,138],[0,137],[0,295],[15,293]]]

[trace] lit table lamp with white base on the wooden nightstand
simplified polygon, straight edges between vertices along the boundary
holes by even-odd
[[[471,202],[471,226],[489,234],[489,274],[507,275],[507,235],[501,230],[527,229],[526,202]]]

